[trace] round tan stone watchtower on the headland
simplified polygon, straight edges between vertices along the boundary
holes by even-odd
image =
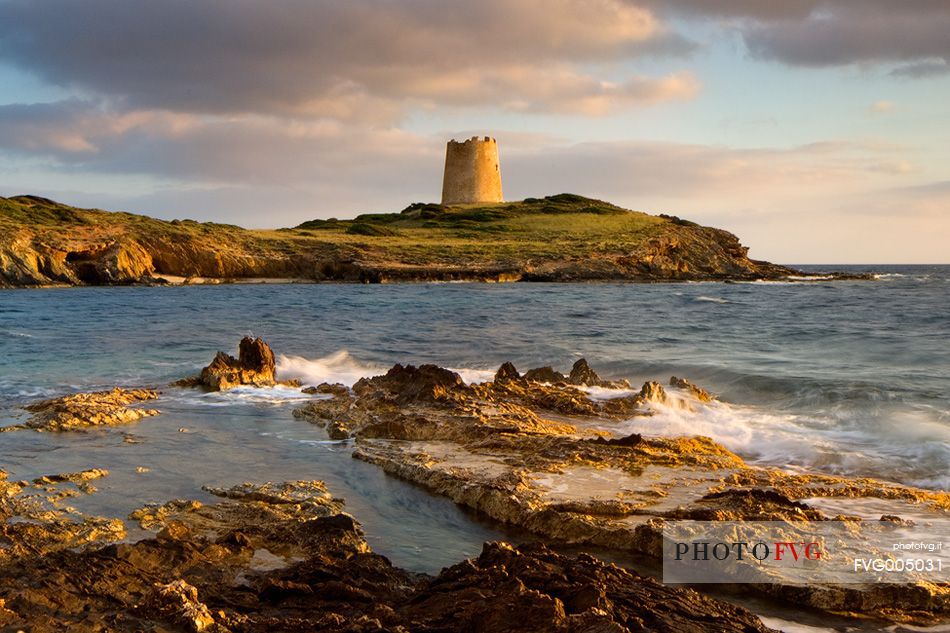
[[[445,147],[442,204],[503,201],[495,139],[473,136],[461,143],[449,141]]]

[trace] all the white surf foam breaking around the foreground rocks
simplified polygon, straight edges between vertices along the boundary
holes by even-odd
[[[491,380],[490,369],[451,368],[469,384]],[[323,382],[352,386],[360,378],[385,373],[388,366],[360,361],[341,350],[307,359],[281,356],[281,379],[304,384]],[[593,400],[630,396],[636,389],[582,387]],[[648,403],[653,415],[636,416],[611,429],[618,433],[677,436],[705,435],[754,463],[789,470],[822,470],[861,474],[931,487],[950,487],[942,464],[950,461],[950,426],[945,411],[911,409],[855,410],[816,408],[809,413],[788,413],[764,407],[714,401],[703,403],[688,392],[668,388],[676,396],[669,404]],[[299,389],[240,387],[222,394],[194,396],[195,404],[227,406],[281,404],[312,398]],[[882,406],[885,406],[884,403]],[[809,407],[811,408],[811,407]],[[850,417],[848,417],[850,416]]]

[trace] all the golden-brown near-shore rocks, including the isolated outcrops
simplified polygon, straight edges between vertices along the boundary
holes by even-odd
[[[175,388],[278,384],[274,355],[245,338]],[[286,384],[286,383],[285,383]],[[541,542],[660,556],[665,521],[844,521],[834,500],[945,519],[950,495],[867,478],[754,466],[705,437],[616,432],[652,408],[706,406],[686,379],[631,387],[583,359],[570,371],[502,365],[468,384],[434,365],[395,365],[352,387],[303,388],[299,423],[353,443],[353,457]],[[149,424],[155,390],[74,394],[30,405],[3,430],[84,433]],[[146,505],[128,519],[154,536],[125,540],[115,517],[69,499],[95,494],[103,469],[9,481],[0,473],[0,630],[15,631],[766,631],[741,606],[664,586],[589,554],[540,543],[486,543],[436,575],[373,553],[357,518],[320,481],[207,488],[219,499]],[[918,518],[919,520],[919,518]],[[742,585],[796,608],[929,625],[950,618],[946,584]],[[741,601],[741,600],[740,600]]]

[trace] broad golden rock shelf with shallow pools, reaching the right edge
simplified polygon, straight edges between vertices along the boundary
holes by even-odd
[[[352,389],[310,389],[315,399],[295,416],[331,438],[355,438],[355,458],[493,519],[654,562],[670,520],[837,520],[859,530],[878,520],[857,515],[863,499],[885,504],[888,520],[950,517],[943,491],[753,466],[708,437],[623,433],[624,421],[658,407],[716,405],[686,379],[668,385],[603,381],[583,361],[569,374],[547,367],[522,375],[505,363],[492,381],[471,385],[434,365],[396,365]],[[799,607],[898,622],[950,614],[950,588],[926,582],[744,587]]]

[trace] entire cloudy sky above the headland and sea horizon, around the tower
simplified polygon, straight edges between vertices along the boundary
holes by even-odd
[[[0,196],[249,228],[505,197],[950,263],[947,0],[0,0]]]

